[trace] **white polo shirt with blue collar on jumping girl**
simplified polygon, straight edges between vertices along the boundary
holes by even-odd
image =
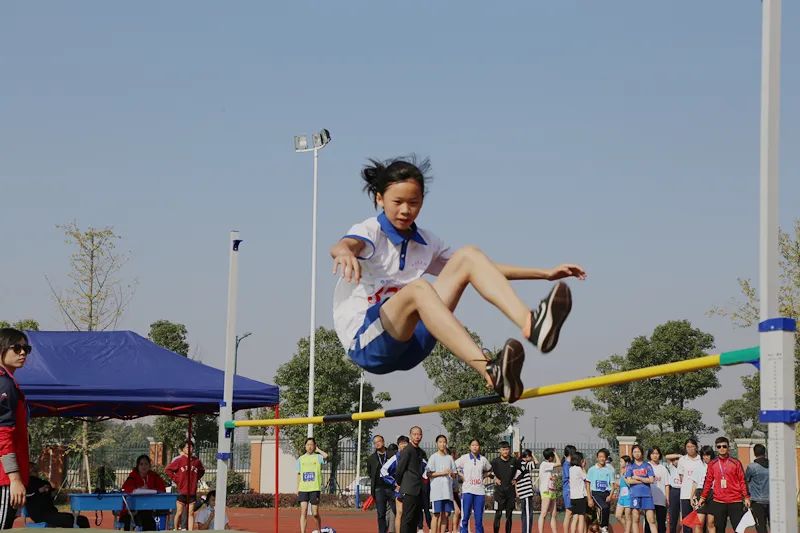
[[[384,213],[354,225],[344,237],[364,241],[358,258],[361,281],[340,278],[333,293],[333,325],[346,350],[370,306],[380,303],[424,274],[438,275],[452,252],[436,235],[414,224],[401,235]],[[343,237],[343,238],[344,238]]]

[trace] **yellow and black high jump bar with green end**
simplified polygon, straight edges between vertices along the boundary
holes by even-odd
[[[668,376],[671,374],[684,374],[704,368],[717,368],[720,366],[731,366],[742,363],[756,363],[759,360],[758,346],[722,352],[714,355],[706,355],[685,361],[676,361],[663,365],[637,368],[624,372],[615,372],[603,376],[576,379],[553,385],[542,385],[525,389],[520,397],[521,400],[540,398],[542,396],[552,396],[554,394],[564,394],[585,389],[596,389],[608,387],[610,385],[620,385],[632,381],[643,381],[645,379]],[[467,400],[454,400],[451,402],[432,403],[428,405],[418,405],[415,407],[403,407],[400,409],[379,409],[377,411],[365,411],[363,413],[343,413],[338,415],[321,415],[302,418],[268,418],[265,420],[228,420],[225,427],[233,429],[235,427],[264,427],[264,426],[305,426],[307,424],[332,424],[336,422],[358,422],[359,420],[378,420],[381,418],[393,418],[398,416],[410,416],[425,413],[439,413],[442,411],[456,411],[479,405],[491,405],[502,403],[502,399],[497,394],[480,396]]]

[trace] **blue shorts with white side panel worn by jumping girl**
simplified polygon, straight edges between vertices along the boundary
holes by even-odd
[[[436,339],[421,320],[407,341],[398,341],[389,335],[381,324],[381,305],[388,301],[383,300],[367,309],[364,323],[358,328],[353,347],[348,352],[355,364],[372,374],[411,370],[436,346]]]

